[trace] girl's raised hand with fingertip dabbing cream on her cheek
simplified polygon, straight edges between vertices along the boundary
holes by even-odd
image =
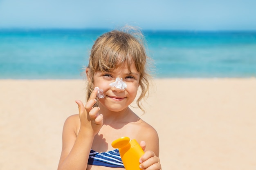
[[[81,122],[80,130],[86,130],[85,132],[92,132],[93,135],[96,135],[102,124],[103,124],[103,115],[99,115],[99,107],[93,107],[97,102],[97,89],[94,88],[90,99],[87,101],[85,106],[80,100],[76,100],[76,104],[79,109],[79,118]]]

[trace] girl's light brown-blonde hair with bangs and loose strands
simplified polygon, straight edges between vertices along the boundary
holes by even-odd
[[[114,30],[101,35],[92,46],[87,77],[90,81],[87,84],[87,100],[94,89],[93,76],[97,71],[108,72],[118,68],[121,64],[127,62],[128,69],[130,65],[135,64],[140,74],[139,86],[141,88],[140,96],[137,98],[137,106],[141,107],[141,100],[145,99],[149,91],[149,79],[146,50],[144,47],[144,36],[141,31],[129,27],[125,30]]]

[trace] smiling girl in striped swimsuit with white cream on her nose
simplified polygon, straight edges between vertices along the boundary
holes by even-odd
[[[120,137],[136,139],[145,151],[139,168],[161,170],[156,130],[129,108],[139,88],[141,108],[149,88],[147,56],[137,32],[110,31],[92,46],[85,70],[88,101],[85,106],[76,101],[79,114],[65,121],[58,170],[124,170],[118,149],[111,146]]]

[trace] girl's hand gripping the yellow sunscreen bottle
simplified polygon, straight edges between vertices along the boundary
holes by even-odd
[[[145,141],[141,141],[140,146],[143,150],[146,148]],[[139,168],[142,170],[162,170],[160,159],[151,150],[148,150],[139,159]]]

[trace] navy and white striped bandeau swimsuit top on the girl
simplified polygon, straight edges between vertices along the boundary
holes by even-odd
[[[94,150],[90,151],[88,165],[107,166],[112,168],[124,168],[119,150],[111,150],[108,152],[99,153]]]

